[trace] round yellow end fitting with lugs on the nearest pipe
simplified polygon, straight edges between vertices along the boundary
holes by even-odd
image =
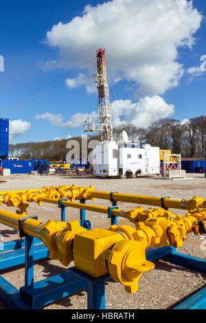
[[[155,268],[155,264],[146,260],[145,245],[138,241],[122,240],[111,246],[106,252],[108,272],[114,280],[121,282],[128,293],[138,289],[138,282],[144,271]]]

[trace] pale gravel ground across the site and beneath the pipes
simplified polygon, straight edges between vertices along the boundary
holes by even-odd
[[[138,178],[138,179],[97,179],[97,178],[71,178],[58,176],[21,175],[1,177],[0,190],[19,190],[27,188],[41,188],[43,186],[93,185],[96,190],[110,192],[125,192],[131,194],[143,194],[159,197],[171,197],[175,199],[190,199],[193,196],[205,197],[206,179],[201,174],[187,174],[192,179],[163,180],[161,178]],[[96,199],[96,205],[108,206],[108,201]],[[128,210],[134,207],[130,203],[118,203],[120,209]],[[144,208],[148,206],[143,205]],[[4,210],[15,212],[16,208],[8,208],[1,205]],[[174,214],[185,214],[183,210],[172,210]],[[56,205],[43,204],[41,207],[35,203],[30,204],[28,215],[38,214],[40,221],[60,219],[60,210]],[[79,211],[66,209],[66,219],[71,221],[79,219]],[[92,227],[108,228],[110,221],[104,214],[87,212],[87,219]],[[119,225],[128,224],[124,219],[118,220]],[[10,227],[0,224],[0,233],[4,241],[19,238],[18,232]],[[206,251],[201,250],[203,239],[189,234],[182,248],[177,251],[190,256],[206,259]],[[73,263],[69,265],[72,267]],[[56,260],[38,260],[34,266],[34,281],[49,278],[67,270]],[[1,276],[6,278],[17,288],[24,285],[23,266],[14,267],[11,270],[1,271]],[[155,269],[144,273],[139,280],[139,289],[133,295],[124,291],[124,286],[108,280],[106,282],[106,309],[168,309],[172,304],[179,302],[190,293],[205,285],[206,274],[193,269],[168,263],[164,260],[155,261]],[[5,309],[5,304],[0,301],[0,309]],[[87,292],[82,291],[68,296],[44,307],[44,309],[87,309]]]

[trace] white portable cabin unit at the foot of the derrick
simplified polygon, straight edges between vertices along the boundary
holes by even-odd
[[[159,171],[159,147],[115,142],[93,146],[94,175],[137,177],[159,174]]]

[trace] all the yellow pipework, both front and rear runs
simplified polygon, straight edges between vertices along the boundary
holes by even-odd
[[[74,261],[76,269],[92,277],[110,274],[121,282],[126,291],[133,293],[138,289],[138,281],[144,271],[154,269],[154,263],[146,260],[146,249],[150,247],[181,247],[186,234],[206,233],[206,201],[200,197],[188,200],[162,199],[135,194],[98,192],[77,186],[45,187],[39,190],[0,192],[1,203],[19,208],[17,214],[0,210],[0,223],[19,229],[19,219],[24,219],[21,230],[24,234],[41,239],[49,249],[49,258],[58,259],[68,266]],[[59,199],[62,205],[82,210],[108,213],[108,208],[74,202],[75,199],[113,199],[130,203],[156,205],[159,208],[144,210],[136,207],[131,210],[113,208],[112,216],[123,216],[133,223],[130,225],[111,225],[109,230],[86,230],[80,222],[52,221],[42,223],[37,219],[27,219],[29,203],[54,203]],[[185,216],[174,215],[164,208],[188,210]]]

